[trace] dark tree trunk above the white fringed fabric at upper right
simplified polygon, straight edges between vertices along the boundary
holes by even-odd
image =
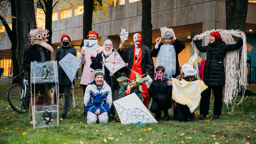
[[[246,22],[248,0],[226,0],[226,29],[242,30]]]

